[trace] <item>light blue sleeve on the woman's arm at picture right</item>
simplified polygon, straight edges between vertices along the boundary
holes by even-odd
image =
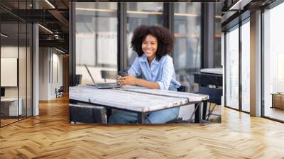
[[[160,89],[168,90],[168,88],[170,87],[170,80],[172,79],[174,71],[175,70],[173,67],[173,59],[167,58],[163,65],[162,78],[160,79],[160,81],[157,81],[160,86]]]

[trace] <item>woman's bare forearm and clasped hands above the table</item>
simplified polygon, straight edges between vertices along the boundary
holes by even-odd
[[[124,85],[137,85],[141,87],[147,87],[147,88],[152,88],[152,89],[160,89],[160,86],[158,82],[149,82],[144,79],[138,79],[136,77],[133,77],[131,75],[121,77],[119,76],[117,79],[117,82],[124,86]]]

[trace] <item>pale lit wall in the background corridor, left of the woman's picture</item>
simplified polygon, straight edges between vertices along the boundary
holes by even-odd
[[[55,88],[62,86],[62,55],[53,48],[40,48],[39,52],[39,100],[55,99]]]

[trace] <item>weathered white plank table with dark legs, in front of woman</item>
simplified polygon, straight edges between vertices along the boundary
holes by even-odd
[[[138,123],[144,123],[146,114],[188,104],[195,104],[195,122],[201,122],[200,106],[209,97],[203,94],[146,89],[126,86],[119,89],[97,89],[92,86],[70,87],[70,102],[85,102],[110,109],[121,109],[138,114]]]

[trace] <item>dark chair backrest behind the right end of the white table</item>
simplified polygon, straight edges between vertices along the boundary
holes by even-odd
[[[199,87],[198,94],[209,95],[208,102],[221,105],[221,97],[223,94],[223,89],[220,88],[209,88],[209,87]]]

